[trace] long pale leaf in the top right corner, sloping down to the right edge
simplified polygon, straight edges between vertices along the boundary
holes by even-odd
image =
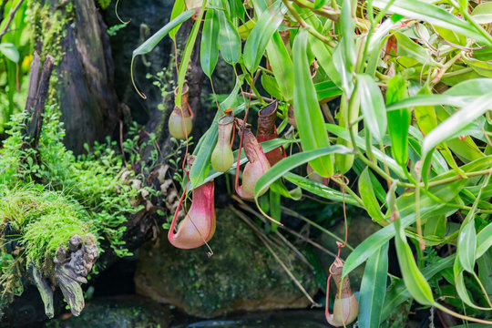
[[[389,0],[374,0],[373,5],[384,8]],[[465,36],[473,37],[478,41],[488,42],[487,38],[480,34],[475,26],[452,15],[437,5],[431,5],[424,1],[398,0],[389,7],[389,11],[399,15],[405,15],[417,20],[423,20],[432,25],[441,26],[456,31]]]

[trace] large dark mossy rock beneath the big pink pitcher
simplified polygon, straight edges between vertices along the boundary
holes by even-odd
[[[186,313],[213,317],[241,310],[301,308],[308,300],[291,278],[231,210],[217,210],[217,230],[207,249],[173,248],[161,233],[159,247],[146,244],[136,273],[137,292],[169,302]],[[316,292],[313,274],[287,250],[277,250],[304,288]]]

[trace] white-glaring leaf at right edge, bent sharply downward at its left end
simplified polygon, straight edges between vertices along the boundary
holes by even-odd
[[[476,100],[469,103],[466,107],[458,110],[450,118],[439,124],[424,138],[422,145],[422,157],[424,165],[422,169],[422,179],[427,182],[427,168],[430,162],[430,154],[435,147],[446,139],[451,138],[468,124],[479,118],[485,112],[492,108],[492,93],[477,97]]]

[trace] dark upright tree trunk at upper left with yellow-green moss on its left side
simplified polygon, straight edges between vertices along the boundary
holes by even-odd
[[[92,145],[108,135],[116,136],[118,131],[118,98],[107,26],[92,0],[69,0],[62,4],[46,0],[36,10],[45,11],[34,22],[35,26],[43,26],[35,33],[36,50],[56,58],[57,82],[52,86],[52,100],[62,113],[67,148],[79,154],[84,151],[84,143]],[[53,21],[49,22],[50,19]],[[60,25],[63,28],[56,30]],[[61,49],[47,41],[45,44],[45,40],[59,42]]]

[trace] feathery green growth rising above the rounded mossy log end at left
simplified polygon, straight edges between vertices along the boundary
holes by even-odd
[[[23,144],[26,143],[21,133],[24,121],[24,114],[15,118],[14,128],[10,131],[11,137],[5,140],[4,149],[0,152],[0,183],[11,190],[15,190],[20,184],[38,185],[37,194],[21,195],[15,191],[15,197],[11,195],[10,200],[6,202],[8,204],[5,205],[5,220],[11,220],[17,229],[22,227],[26,213],[31,210],[28,208],[29,204],[36,203],[35,200],[26,202],[22,198],[36,199],[43,195],[44,190],[59,190],[63,192],[60,200],[57,200],[60,204],[75,202],[82,209],[67,207],[65,213],[58,209],[60,216],[87,218],[83,220],[94,225],[99,235],[108,240],[118,255],[128,255],[129,252],[121,241],[125,231],[123,224],[128,220],[128,216],[141,210],[141,207],[134,206],[139,191],[126,184],[128,180],[123,181],[119,177],[125,169],[125,164],[122,156],[115,150],[118,146],[116,142],[95,144],[92,154],[76,159],[62,143],[65,130],[59,121],[59,111],[54,107],[48,107],[36,152],[23,148]],[[135,144],[136,142],[132,144],[133,147],[136,147]],[[135,152],[136,149],[128,150]],[[129,178],[134,178],[131,171],[129,173]],[[27,193],[29,192],[35,191],[30,190]],[[149,192],[152,194],[156,191]],[[50,203],[45,199],[42,202]],[[44,215],[36,211],[33,213],[39,219]]]

